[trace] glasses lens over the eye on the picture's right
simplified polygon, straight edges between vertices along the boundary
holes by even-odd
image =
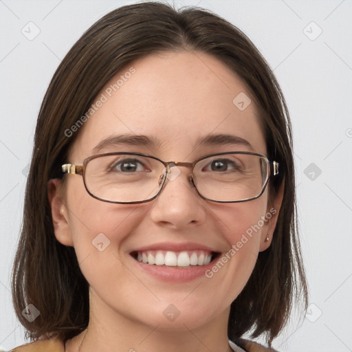
[[[213,155],[195,165],[198,192],[214,201],[243,201],[261,195],[269,176],[265,157],[250,154]]]

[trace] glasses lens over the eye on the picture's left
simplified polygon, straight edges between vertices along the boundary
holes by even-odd
[[[133,202],[153,198],[161,188],[164,165],[140,155],[102,155],[89,160],[87,190],[106,201]]]

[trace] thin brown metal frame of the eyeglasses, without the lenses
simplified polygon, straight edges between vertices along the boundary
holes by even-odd
[[[263,159],[265,159],[265,162],[267,164],[267,179],[265,181],[265,184],[263,184],[263,188],[261,190],[261,192],[259,193],[259,195],[257,195],[256,197],[252,197],[252,198],[248,198],[248,199],[241,199],[239,201],[216,201],[214,199],[209,199],[207,197],[204,197],[203,195],[201,195],[201,193],[199,193],[199,190],[197,188],[197,185],[195,184],[195,181],[193,179],[193,170],[195,168],[195,165],[198,162],[201,162],[201,160],[206,159],[208,157],[213,157],[216,155],[228,155],[228,154],[245,154],[245,155],[256,155],[258,157],[262,157]],[[150,157],[151,159],[155,159],[158,162],[161,162],[165,169],[166,169],[166,173],[163,173],[162,178],[159,180],[159,182],[162,182],[162,186],[159,189],[159,191],[157,192],[157,194],[149,199],[145,199],[143,201],[110,201],[107,199],[102,199],[99,197],[96,197],[95,195],[93,195],[89,189],[87,188],[87,184],[85,181],[85,170],[87,168],[87,164],[93,160],[96,159],[98,157],[103,157],[103,156],[109,156],[109,155],[138,155],[138,156],[142,156],[142,157]],[[106,201],[107,203],[118,203],[118,204],[140,204],[140,203],[146,203],[148,201],[152,201],[153,199],[155,199],[164,189],[165,185],[166,185],[166,179],[168,178],[167,175],[168,173],[170,173],[170,168],[173,166],[184,166],[186,168],[189,168],[191,173],[189,175],[189,180],[190,183],[192,184],[192,186],[195,187],[195,189],[197,190],[198,195],[203,198],[206,199],[208,201],[214,201],[216,203],[241,203],[243,201],[251,201],[253,199],[257,199],[259,197],[261,197],[261,195],[263,195],[263,192],[265,190],[265,188],[267,187],[267,184],[269,182],[270,177],[275,177],[276,175],[278,175],[278,167],[279,164],[278,162],[272,162],[270,161],[270,159],[268,159],[265,155],[259,154],[259,153],[255,153],[255,152],[250,152],[250,151],[228,151],[225,153],[214,153],[214,154],[210,154],[210,155],[205,155],[203,157],[199,157],[199,159],[196,159],[194,162],[164,162],[162,159],[159,159],[158,157],[155,157],[153,155],[148,155],[148,154],[143,154],[143,153],[133,153],[133,152],[111,152],[111,153],[102,153],[102,154],[96,154],[96,155],[91,155],[90,157],[87,157],[84,161],[82,165],[77,165],[77,164],[63,164],[61,166],[61,171],[62,173],[67,173],[67,174],[72,174],[72,175],[81,175],[83,177],[83,184],[85,185],[85,189],[87,190],[88,194],[95,198],[98,199],[100,201]]]

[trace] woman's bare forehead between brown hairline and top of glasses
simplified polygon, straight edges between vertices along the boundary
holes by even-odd
[[[153,143],[143,146],[135,139],[133,151],[166,159],[216,152],[216,143],[206,146],[200,141],[225,134],[252,146],[235,143],[236,148],[229,144],[227,150],[266,153],[250,91],[230,68],[203,52],[163,52],[133,61],[111,78],[98,100],[71,148],[74,159],[97,153],[102,140],[113,135],[147,136]],[[105,151],[130,151],[133,142],[111,148]]]

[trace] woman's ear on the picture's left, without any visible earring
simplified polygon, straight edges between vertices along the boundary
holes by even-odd
[[[56,239],[63,245],[74,245],[69,228],[67,206],[63,201],[60,179],[50,179],[47,182],[47,197],[52,208],[52,222]]]

